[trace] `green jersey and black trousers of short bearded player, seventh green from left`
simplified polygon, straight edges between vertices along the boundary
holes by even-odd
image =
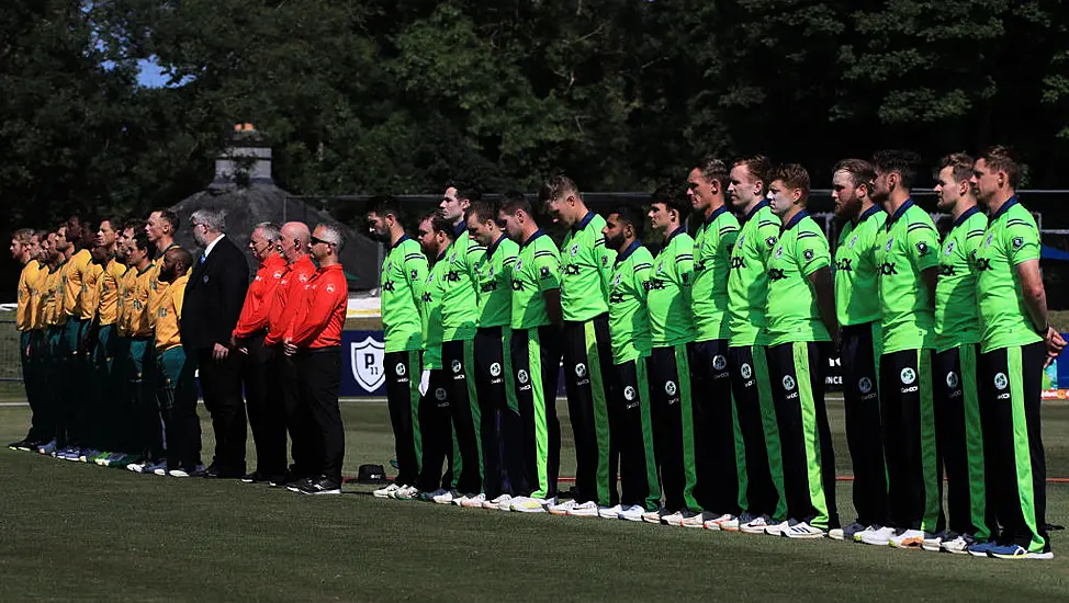
[[[616,365],[617,416],[612,440],[620,451],[620,503],[652,511],[661,501],[653,450],[653,420],[646,359],[650,356],[650,314],[646,310],[653,255],[634,241],[612,263],[609,286],[609,333]]]

